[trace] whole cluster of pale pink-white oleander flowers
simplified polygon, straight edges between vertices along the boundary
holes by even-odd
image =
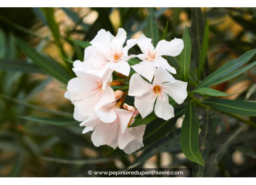
[[[93,131],[91,139],[96,147],[108,145],[115,149],[118,146],[131,154],[144,147],[146,126],[129,127],[137,114],[145,118],[155,104],[159,118],[172,118],[174,110],[168,95],[177,103],[183,103],[187,97],[187,82],[175,80],[170,73],[176,74],[176,70],[162,58],[163,55],[179,55],[184,48],[181,39],[161,40],[154,48],[151,39],[142,35],[139,39],[128,40],[123,47],[126,35],[123,28],[118,29],[116,36],[104,29],[97,33],[84,51],[84,61],[73,63],[77,77],[68,82],[65,97],[74,104],[74,118],[81,122],[80,126],[85,126],[83,133]],[[143,54],[128,56],[128,50],[136,44]],[[129,96],[135,96],[133,107],[124,103],[127,92],[114,91],[111,85],[115,84],[113,71],[129,76],[127,61],[135,57],[142,61],[131,66],[136,71],[128,91]]]

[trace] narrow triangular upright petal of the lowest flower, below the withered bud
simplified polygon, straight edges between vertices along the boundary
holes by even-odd
[[[119,126],[121,128],[121,133],[124,133],[125,129],[127,128],[132,118],[133,112],[120,109],[120,108],[115,109],[115,111],[118,118]]]

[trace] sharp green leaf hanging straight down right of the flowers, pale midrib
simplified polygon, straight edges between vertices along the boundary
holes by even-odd
[[[181,127],[181,149],[189,160],[204,165],[198,149],[198,132],[199,125],[195,105],[192,102],[189,102],[185,110],[185,118]]]

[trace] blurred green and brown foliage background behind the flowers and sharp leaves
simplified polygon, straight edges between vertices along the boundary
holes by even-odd
[[[120,27],[128,39],[138,38],[144,33],[148,13],[148,8],[0,8],[0,176],[79,177],[88,176],[87,168],[129,166],[181,167],[188,168],[188,173],[192,168],[193,176],[202,176],[195,172],[203,167],[192,164],[181,152],[179,132],[184,117],[177,120],[174,131],[157,137],[144,152],[111,156],[111,148],[94,147],[90,133],[82,135],[83,128],[73,120],[73,105],[64,98],[67,81],[74,77],[69,60],[83,61],[88,46],[79,41],[92,40],[100,29],[115,35]],[[199,26],[196,34],[203,35],[209,18],[206,74],[256,48],[255,8],[155,8],[155,16],[160,36],[168,21],[166,40],[181,38],[185,26],[189,28],[192,74],[199,57],[193,46],[193,21]],[[132,52],[139,53],[137,46]],[[176,60],[168,58],[177,69]],[[223,98],[255,100],[256,67],[212,88],[239,92]],[[199,126],[207,123],[213,133],[207,140],[211,155],[203,176],[254,176],[255,128],[237,130],[239,121],[228,115],[196,110]]]

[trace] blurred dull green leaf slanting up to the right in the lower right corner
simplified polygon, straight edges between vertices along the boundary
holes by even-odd
[[[241,126],[237,128],[235,132],[227,136],[223,143],[218,145],[218,148],[211,154],[207,161],[207,168],[205,169],[204,175],[205,177],[215,176],[220,160],[223,158],[230,145],[237,139],[237,136],[243,131],[245,127],[246,126]]]

